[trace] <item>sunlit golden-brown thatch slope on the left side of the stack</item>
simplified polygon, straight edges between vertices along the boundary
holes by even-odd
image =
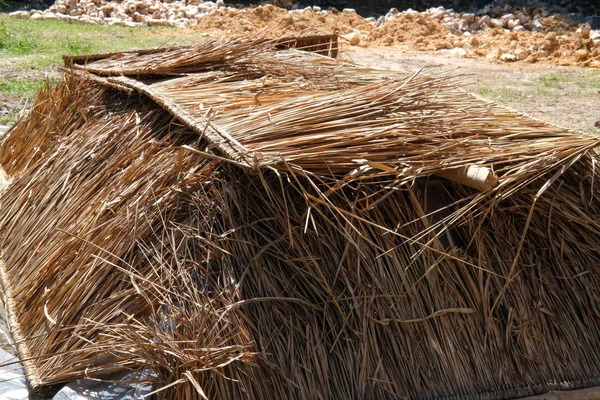
[[[72,85],[63,83],[48,96],[63,94]],[[66,114],[70,104],[92,101],[86,90],[63,99],[66,110],[58,115],[67,115],[67,120],[55,121],[53,127],[65,129],[60,137],[46,139],[53,151],[31,162],[2,197],[5,285],[13,294],[11,313],[18,316],[22,335],[17,346],[26,346],[35,360],[29,374],[34,386],[69,380],[84,369],[92,373],[89,364],[94,362],[102,362],[97,367],[102,372],[122,368],[119,357],[88,359],[104,346],[102,325],[89,321],[99,315],[103,323],[122,321],[134,310],[144,313],[134,300],[135,288],[113,263],[135,243],[141,233],[139,221],[146,222],[152,208],[172,201],[178,190],[193,186],[195,178],[186,177],[206,165],[194,154],[182,158],[176,148],[165,147],[165,138],[176,137],[182,144],[196,138],[163,111],[136,109],[108,93],[95,99],[92,108],[98,111],[87,121],[85,114],[78,113],[79,119]],[[110,106],[102,107],[103,101]],[[117,104],[121,106],[113,108]],[[31,125],[20,124],[8,141]],[[31,141],[38,142],[46,131],[34,133]],[[29,142],[22,144],[27,146]],[[171,168],[162,169],[164,165]],[[118,214],[125,219],[115,218]],[[152,228],[143,225],[142,229]],[[14,241],[31,229],[26,239]],[[72,269],[64,270],[63,265]],[[63,362],[76,371],[74,375]]]

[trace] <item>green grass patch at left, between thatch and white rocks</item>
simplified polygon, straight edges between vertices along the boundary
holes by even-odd
[[[9,7],[12,4],[11,0],[0,1]],[[10,111],[0,114],[0,122],[14,122],[16,111],[12,110],[18,110],[23,100],[33,100],[46,73],[62,65],[63,55],[180,46],[202,40],[197,31],[172,27],[81,25],[0,15],[0,106]]]

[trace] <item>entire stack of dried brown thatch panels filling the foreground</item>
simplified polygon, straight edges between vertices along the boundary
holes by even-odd
[[[0,272],[32,387],[144,368],[165,399],[600,385],[600,141],[460,77],[279,47],[70,59],[8,132]]]

